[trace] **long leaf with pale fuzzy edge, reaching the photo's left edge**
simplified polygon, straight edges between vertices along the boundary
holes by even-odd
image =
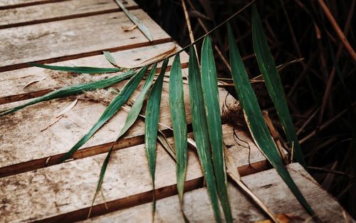
[[[75,85],[69,85],[63,88],[59,88],[58,90],[53,90],[50,93],[43,95],[41,97],[35,98],[33,100],[30,100],[28,103],[25,103],[23,105],[19,105],[15,108],[11,108],[9,110],[4,110],[1,112],[0,116],[2,115],[7,115],[10,113],[14,113],[17,110],[20,110],[22,108],[27,107],[28,105],[34,105],[36,103],[40,103],[42,101],[46,101],[46,100],[52,100],[52,99],[56,99],[56,98],[63,98],[63,97],[67,97],[70,95],[78,95],[80,93],[84,93],[85,91],[88,90],[95,90],[95,89],[100,89],[100,88],[106,88],[110,85],[113,85],[115,83],[119,83],[122,80],[125,80],[127,78],[130,78],[131,76],[133,76],[135,74],[134,71],[130,70],[127,71],[125,73],[122,73],[120,75],[117,76],[113,76],[112,78],[107,78],[107,79],[103,79],[100,81],[94,81],[91,83],[79,83],[79,84],[75,84]]]

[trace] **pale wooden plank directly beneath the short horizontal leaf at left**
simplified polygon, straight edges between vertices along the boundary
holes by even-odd
[[[145,46],[142,48],[133,48],[125,51],[113,52],[112,56],[115,58],[119,66],[122,67],[136,67],[142,66],[142,62],[154,58],[155,56],[167,52],[174,48],[176,43],[162,43],[153,46]],[[180,48],[177,47],[177,50]],[[187,67],[189,60],[187,53],[180,53],[183,68]],[[169,63],[172,63],[170,60]],[[57,66],[96,66],[104,68],[112,68],[113,66],[105,59],[105,56],[90,56],[79,58],[71,61],[63,61],[54,63]],[[170,65],[170,64],[169,64]],[[159,66],[160,67],[160,66]],[[11,103],[17,100],[26,100],[29,98],[36,98],[38,96],[48,93],[53,88],[62,87],[63,83],[58,82],[53,75],[61,76],[63,73],[56,73],[47,71],[43,68],[22,68],[15,71],[5,71],[0,73],[0,104]],[[43,79],[45,78],[45,79]],[[43,80],[38,83],[24,85],[31,81]]]

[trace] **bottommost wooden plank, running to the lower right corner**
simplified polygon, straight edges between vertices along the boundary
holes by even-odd
[[[328,195],[315,180],[298,164],[288,165],[288,170],[296,184],[302,190],[308,202],[323,222],[355,222],[348,214],[345,219],[344,209],[335,199]],[[293,222],[305,222],[308,214],[300,206],[288,187],[283,183],[275,170],[266,170],[242,177],[248,187],[276,213],[295,216]],[[229,184],[229,197],[234,222],[257,222],[265,219],[265,215],[250,199],[246,199],[236,186]],[[89,222],[147,222],[152,212],[151,204],[123,209],[83,221]],[[184,195],[184,213],[190,222],[215,222],[209,204],[206,188],[193,190]],[[184,222],[179,210],[178,196],[167,197],[157,201],[155,222]],[[309,221],[308,221],[309,222]],[[310,223],[313,221],[310,221]]]

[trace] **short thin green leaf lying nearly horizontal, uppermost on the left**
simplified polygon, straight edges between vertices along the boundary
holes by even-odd
[[[91,66],[50,66],[40,63],[28,63],[30,66],[36,66],[38,68],[45,68],[53,71],[66,71],[72,73],[115,73],[122,71],[121,68],[95,68]]]

